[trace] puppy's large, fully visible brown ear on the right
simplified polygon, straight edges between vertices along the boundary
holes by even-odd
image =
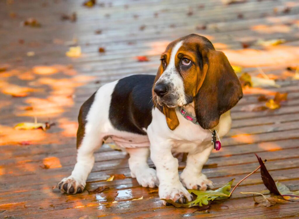
[[[210,50],[203,55],[205,79],[194,98],[196,119],[204,129],[219,123],[220,115],[243,97],[234,69],[223,52]]]

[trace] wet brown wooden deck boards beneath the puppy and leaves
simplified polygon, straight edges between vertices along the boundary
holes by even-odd
[[[62,14],[73,12],[76,22],[61,20]],[[275,180],[299,190],[299,80],[292,80],[295,70],[286,70],[299,63],[298,15],[298,1],[288,0],[103,0],[91,8],[83,7],[81,0],[0,1],[0,65],[7,68],[0,72],[0,218],[299,218],[298,203],[258,207],[251,195],[239,193],[266,193],[259,172],[230,200],[208,210],[165,207],[156,189],[142,188],[130,177],[128,156],[107,145],[95,153],[87,189],[107,185],[108,191],[65,195],[53,189],[76,162],[80,105],[104,83],[130,74],[155,74],[168,42],[197,33],[244,72],[257,75],[260,66],[281,85],[244,91],[232,109],[233,126],[222,139],[223,148],[211,154],[203,172],[216,187],[231,178],[239,181],[258,166],[258,153],[268,159]],[[20,25],[30,17],[41,27]],[[242,42],[277,38],[286,42],[242,48]],[[70,44],[81,46],[80,57],[65,55]],[[106,52],[99,53],[99,47]],[[136,56],[149,61],[138,62]],[[277,91],[289,93],[280,109],[250,110],[260,94],[273,98]],[[20,92],[25,97],[11,95]],[[56,125],[46,132],[13,129],[34,117]],[[114,174],[126,178],[106,182]]]

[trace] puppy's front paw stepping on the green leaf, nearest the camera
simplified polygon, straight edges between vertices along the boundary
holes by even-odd
[[[159,197],[160,199],[170,199],[174,202],[184,204],[187,201],[192,201],[192,195],[187,191],[181,183],[176,185],[164,184],[159,185]],[[166,201],[162,201],[164,205],[170,205]]]

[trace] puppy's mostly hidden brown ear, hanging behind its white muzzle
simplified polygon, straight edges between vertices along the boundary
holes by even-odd
[[[152,101],[154,102],[154,106],[157,107],[165,115],[167,126],[171,130],[175,130],[176,127],[178,127],[178,125],[180,124],[179,119],[176,115],[176,109],[168,108],[168,107],[161,107],[157,102],[157,95],[154,92],[155,83],[157,82],[157,80],[159,79],[159,77],[161,76],[162,73],[163,73],[163,69],[160,66],[158,69],[157,75],[155,77],[153,87],[152,87],[152,96],[153,96]]]

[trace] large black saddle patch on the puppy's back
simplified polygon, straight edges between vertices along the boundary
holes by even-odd
[[[111,95],[109,120],[115,129],[146,135],[152,122],[155,75],[136,74],[120,79]]]

